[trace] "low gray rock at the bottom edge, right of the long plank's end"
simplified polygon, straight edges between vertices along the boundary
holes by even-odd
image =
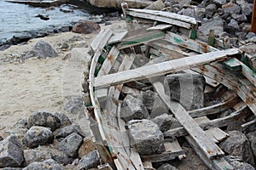
[[[240,156],[224,156],[224,159],[230,163],[234,169],[239,170],[254,170],[255,168],[248,164],[246,161],[243,161]]]

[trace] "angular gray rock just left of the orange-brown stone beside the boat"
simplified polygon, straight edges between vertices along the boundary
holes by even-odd
[[[57,149],[63,151],[68,156],[78,156],[80,145],[83,144],[83,138],[78,133],[72,133],[57,145]]]

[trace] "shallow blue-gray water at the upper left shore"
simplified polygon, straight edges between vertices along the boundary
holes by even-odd
[[[60,9],[73,9],[71,13],[64,13]],[[48,15],[49,20],[41,20],[38,14]],[[26,31],[35,31],[49,27],[68,26],[78,20],[86,20],[90,14],[73,5],[61,7],[34,8],[26,4],[8,3],[0,0],[0,42]]]

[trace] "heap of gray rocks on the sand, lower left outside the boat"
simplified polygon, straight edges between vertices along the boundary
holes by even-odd
[[[6,131],[0,142],[3,169],[89,169],[101,164],[89,129],[59,112],[33,112]]]

